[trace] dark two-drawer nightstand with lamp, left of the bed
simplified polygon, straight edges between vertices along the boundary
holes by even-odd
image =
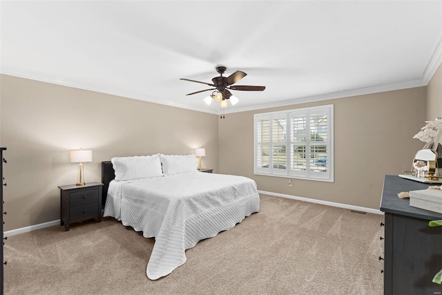
[[[102,189],[99,182],[88,182],[84,185],[61,185],[60,189],[60,225],[69,230],[70,223],[91,218],[102,222]]]

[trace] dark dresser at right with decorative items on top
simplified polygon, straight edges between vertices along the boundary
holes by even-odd
[[[398,198],[401,191],[430,185],[385,175],[381,199],[381,211],[385,212],[385,295],[442,294],[442,285],[432,283],[442,269],[442,227],[428,226],[430,220],[442,219],[442,214],[411,207],[410,199]]]

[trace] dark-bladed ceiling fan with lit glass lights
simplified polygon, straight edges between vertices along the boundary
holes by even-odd
[[[244,78],[247,74],[242,72],[241,70],[237,70],[235,73],[231,74],[229,77],[223,77],[222,74],[225,73],[227,68],[225,66],[217,66],[216,71],[220,74],[220,77],[214,77],[212,79],[212,83],[200,82],[191,79],[181,78],[180,80],[190,81],[200,84],[206,84],[207,86],[212,86],[214,88],[204,89],[202,91],[196,91],[193,93],[188,93],[186,95],[193,95],[196,93],[202,93],[204,91],[213,91],[212,95],[206,97],[204,102],[206,104],[211,104],[212,100],[215,102],[220,102],[221,108],[227,107],[227,99],[231,99],[231,104],[235,105],[238,103],[238,98],[233,96],[229,90],[238,90],[238,91],[263,91],[265,90],[265,86],[249,86],[249,85],[232,85],[236,82],[240,81],[240,79]]]

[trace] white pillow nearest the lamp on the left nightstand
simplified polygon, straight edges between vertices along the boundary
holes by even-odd
[[[162,176],[160,155],[115,157],[111,159],[115,180],[135,180]]]

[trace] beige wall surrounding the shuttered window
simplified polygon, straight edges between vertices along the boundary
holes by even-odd
[[[385,174],[410,171],[423,142],[425,87],[226,115],[219,123],[220,173],[256,180],[258,189],[379,209]],[[334,183],[253,175],[253,114],[334,104]]]

